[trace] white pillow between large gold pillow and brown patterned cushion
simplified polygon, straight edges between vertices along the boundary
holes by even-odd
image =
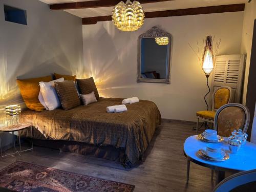
[[[61,106],[58,95],[53,87],[54,82],[62,82],[64,78],[59,78],[50,82],[39,82],[40,92],[38,99],[42,105],[49,111],[55,110]]]

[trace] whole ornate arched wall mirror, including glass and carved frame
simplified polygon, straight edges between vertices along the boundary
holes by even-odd
[[[138,41],[137,82],[170,83],[172,36],[153,27]]]

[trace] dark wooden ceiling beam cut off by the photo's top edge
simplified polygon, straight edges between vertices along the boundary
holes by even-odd
[[[168,1],[174,1],[174,0],[139,0],[141,4],[168,2]],[[88,2],[51,4],[50,9],[67,10],[67,9],[87,9],[87,8],[97,8],[97,7],[114,7],[119,2],[121,2],[121,0],[99,0],[99,1],[88,1]]]

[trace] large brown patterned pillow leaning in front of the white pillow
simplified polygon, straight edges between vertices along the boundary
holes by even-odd
[[[54,82],[54,87],[64,110],[70,110],[80,105],[80,98],[72,80]]]

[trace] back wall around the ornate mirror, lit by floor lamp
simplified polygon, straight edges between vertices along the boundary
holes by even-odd
[[[138,36],[159,25],[173,36],[170,84],[137,83]],[[121,32],[112,22],[83,26],[86,73],[94,76],[104,97],[138,96],[154,101],[163,118],[195,121],[205,110],[206,78],[197,57],[197,40],[209,34],[221,38],[219,55],[240,54],[243,12],[148,18],[141,29]]]

